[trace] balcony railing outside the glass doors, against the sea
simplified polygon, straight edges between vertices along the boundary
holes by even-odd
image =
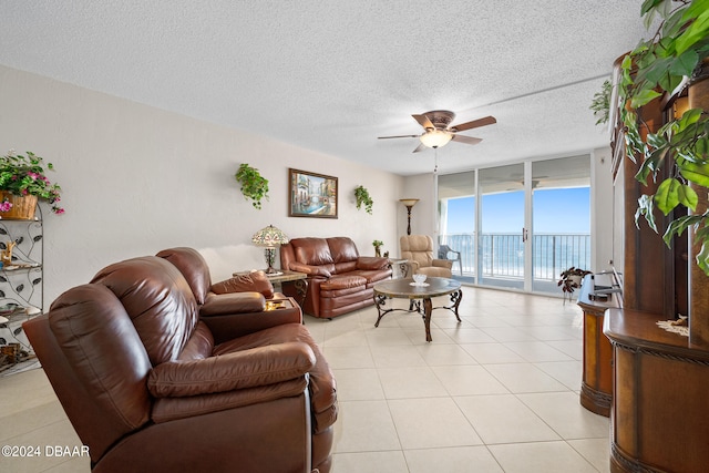
[[[475,276],[474,234],[442,235],[441,244],[461,253],[463,276]],[[524,277],[522,234],[481,234],[479,255],[483,277]],[[532,237],[532,271],[535,280],[556,280],[563,270],[572,266],[590,267],[590,235],[536,234]]]

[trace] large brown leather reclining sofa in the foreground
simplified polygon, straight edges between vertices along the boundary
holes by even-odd
[[[160,255],[23,325],[92,470],[329,472],[335,379],[295,301],[216,294],[197,251]]]

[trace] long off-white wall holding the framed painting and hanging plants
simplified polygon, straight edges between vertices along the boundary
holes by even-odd
[[[66,214],[43,208],[45,309],[111,263],[173,246],[230,246],[220,270],[251,269],[261,251],[250,237],[269,224],[290,237],[346,235],[362,255],[373,239],[398,253],[400,176],[1,65],[0,83],[0,153],[43,156],[63,189]],[[234,179],[240,163],[269,179],[261,210]],[[339,178],[338,219],[288,217],[288,167]],[[373,215],[354,206],[360,184]]]

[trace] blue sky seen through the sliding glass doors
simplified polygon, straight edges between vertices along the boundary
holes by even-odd
[[[537,234],[589,234],[590,188],[536,189],[533,228]],[[516,233],[524,227],[524,192],[489,194],[482,202],[483,233]],[[472,234],[475,198],[450,199],[448,234]]]

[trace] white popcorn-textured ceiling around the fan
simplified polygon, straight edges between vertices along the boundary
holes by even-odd
[[[479,145],[439,172],[607,145],[588,110],[647,37],[640,0],[0,0],[0,63],[401,175],[411,117],[452,110]]]

